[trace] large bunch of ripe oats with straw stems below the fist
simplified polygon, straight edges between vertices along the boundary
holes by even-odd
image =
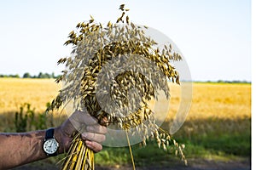
[[[157,42],[145,33],[148,28],[131,23],[124,4],[119,9],[122,14],[115,24],[109,21],[102,26],[90,17],[70,32],[65,44],[73,45],[72,56],[58,61],[67,69],[56,80],[66,85],[48,110],[73,100],[75,110],[86,110],[99,122],[107,117],[108,125],[126,134],[138,132],[143,144],[149,137],[164,150],[174,144],[185,161],[182,147],[155,123],[148,105],[150,99],[157,99],[159,90],[170,98],[167,81],[179,84],[171,61],[180,60],[181,55],[172,52],[172,45],[156,48]],[[67,155],[62,169],[94,169],[94,153],[79,133],[73,135]]]

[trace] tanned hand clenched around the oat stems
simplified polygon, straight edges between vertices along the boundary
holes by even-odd
[[[107,127],[101,126],[96,118],[87,112],[75,111],[66,122],[55,128],[55,138],[59,141],[60,151],[68,150],[72,142],[72,134],[76,131],[81,133],[82,139],[91,150],[102,150],[102,142],[106,139]]]

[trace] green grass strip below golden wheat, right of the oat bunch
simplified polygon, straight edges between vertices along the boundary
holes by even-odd
[[[174,136],[187,156],[251,156],[251,118],[185,122]]]

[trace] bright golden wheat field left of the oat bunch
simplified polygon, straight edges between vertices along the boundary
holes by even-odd
[[[0,113],[18,111],[24,103],[45,111],[60,88],[54,79],[0,78]]]

